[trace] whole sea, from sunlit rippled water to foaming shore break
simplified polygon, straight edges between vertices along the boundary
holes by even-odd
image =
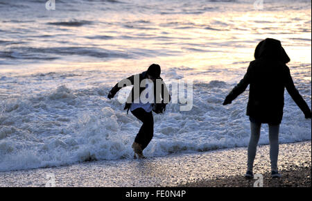
[[[154,114],[147,157],[248,146],[248,89],[222,103],[266,37],[311,107],[311,1],[0,1],[0,171],[131,159],[141,122],[106,97],[153,63],[169,87],[193,82],[193,107]],[[306,140],[311,120],[286,91],[279,141]]]

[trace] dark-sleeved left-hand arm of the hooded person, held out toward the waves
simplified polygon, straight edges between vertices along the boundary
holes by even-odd
[[[250,84],[250,65],[248,67],[247,73],[245,73],[244,78],[237,84],[234,89],[232,89],[231,92],[229,92],[229,95],[225,98],[223,105],[227,105],[232,103],[232,100],[234,100],[237,96],[239,96]]]

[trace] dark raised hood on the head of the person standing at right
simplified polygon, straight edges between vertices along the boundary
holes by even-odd
[[[271,60],[279,60],[285,64],[291,61],[281,46],[281,42],[272,38],[267,38],[259,42],[254,51],[254,58],[256,60],[259,58],[270,58]]]

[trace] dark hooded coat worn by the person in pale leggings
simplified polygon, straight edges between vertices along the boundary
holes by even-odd
[[[247,115],[259,123],[279,124],[283,118],[284,89],[286,87],[304,114],[311,114],[309,106],[295,88],[291,72],[286,66],[288,55],[278,40],[263,40],[254,53],[247,73],[225,98],[232,102],[250,85]]]

